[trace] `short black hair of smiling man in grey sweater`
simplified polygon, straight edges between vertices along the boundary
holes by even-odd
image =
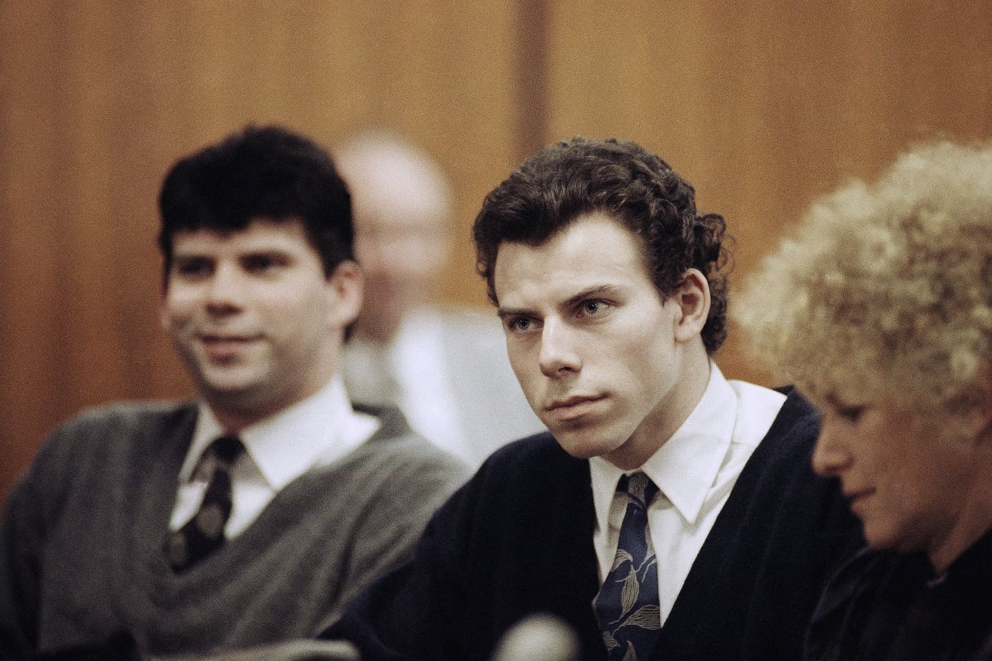
[[[299,218],[328,278],[354,259],[351,198],[330,156],[281,126],[249,125],[182,159],[159,194],[159,248],[168,281],[177,232],[244,229]]]

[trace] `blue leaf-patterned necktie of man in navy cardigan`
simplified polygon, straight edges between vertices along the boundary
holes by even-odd
[[[592,600],[610,661],[646,661],[662,628],[658,562],[648,532],[648,505],[658,487],[643,472],[620,478],[627,493],[617,555]]]

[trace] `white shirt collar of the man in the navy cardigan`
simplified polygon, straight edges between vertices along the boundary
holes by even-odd
[[[682,426],[652,455],[643,470],[691,525],[699,515],[727,456],[737,418],[737,397],[719,367],[710,362],[702,398]],[[589,460],[592,496],[600,527],[608,525],[610,504],[623,470],[601,457]]]

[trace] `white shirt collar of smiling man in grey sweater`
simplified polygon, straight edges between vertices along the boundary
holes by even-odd
[[[368,439],[379,421],[351,408],[340,376],[309,398],[241,430],[248,456],[273,490],[278,491],[317,464],[332,463]],[[224,429],[210,408],[199,404],[196,427],[180,471],[192,476],[200,455]],[[290,451],[290,452],[288,452]]]

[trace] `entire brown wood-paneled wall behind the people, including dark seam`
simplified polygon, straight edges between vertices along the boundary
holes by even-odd
[[[746,275],[816,195],[908,142],[992,137],[987,0],[0,0],[0,493],[80,408],[189,384],[157,321],[155,198],[246,122],[411,135],[468,227],[538,145],[642,142]],[[766,377],[732,340],[732,376]]]

